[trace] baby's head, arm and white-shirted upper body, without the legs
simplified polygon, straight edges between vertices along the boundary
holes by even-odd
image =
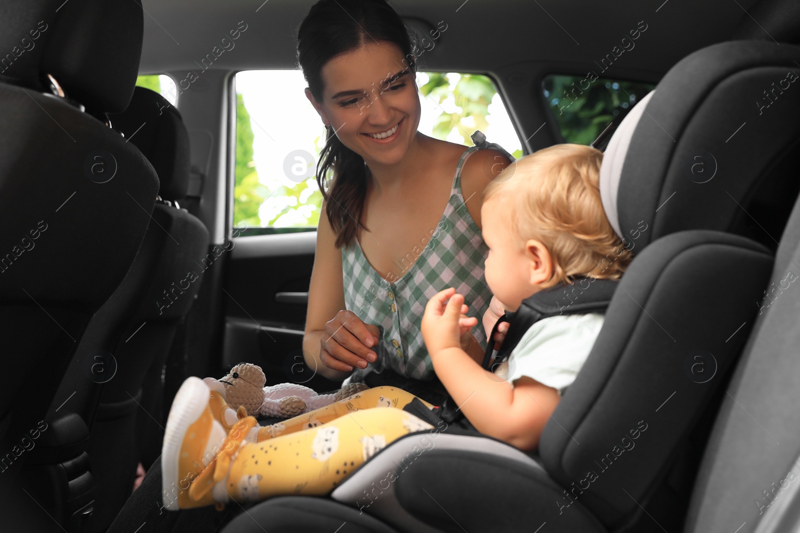
[[[484,190],[486,283],[494,294],[483,320],[486,338],[502,309],[516,311],[535,292],[571,283],[571,276],[622,276],[632,255],[602,209],[601,161],[597,149],[554,145],[515,161]],[[463,315],[465,307],[454,288],[438,292],[426,306],[422,336],[434,371],[478,431],[534,450],[561,393],[589,355],[603,315],[539,320],[492,373],[460,348],[466,328],[478,321]]]

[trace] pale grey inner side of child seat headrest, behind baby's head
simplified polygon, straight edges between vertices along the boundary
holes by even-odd
[[[619,227],[619,217],[617,213],[617,191],[619,189],[619,178],[622,176],[622,163],[628,152],[630,139],[634,136],[634,130],[639,120],[644,114],[644,109],[650,97],[655,93],[654,90],[647,93],[630,112],[622,119],[614,135],[608,141],[606,150],[603,152],[602,165],[600,165],[600,198],[602,207],[606,211],[606,217],[614,228],[614,232],[623,240],[626,239],[622,229]]]

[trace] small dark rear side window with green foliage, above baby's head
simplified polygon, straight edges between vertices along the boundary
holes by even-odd
[[[542,80],[542,96],[565,142],[589,145],[619,113],[647,93],[650,83],[551,74]]]

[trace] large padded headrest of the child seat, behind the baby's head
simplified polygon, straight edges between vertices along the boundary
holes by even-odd
[[[800,47],[722,42],[682,59],[614,132],[600,193],[614,231],[687,229],[777,248],[800,192]],[[793,87],[796,86],[796,87]]]

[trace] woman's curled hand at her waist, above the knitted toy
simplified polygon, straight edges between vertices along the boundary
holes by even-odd
[[[342,309],[325,323],[320,337],[319,360],[328,368],[350,372],[354,367],[366,368],[378,356],[374,347],[380,341],[378,326],[364,324],[352,311]]]

